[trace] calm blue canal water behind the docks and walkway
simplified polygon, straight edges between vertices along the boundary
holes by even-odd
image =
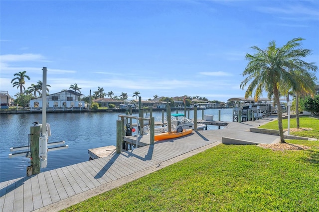
[[[49,142],[64,140],[69,148],[48,152],[48,165],[41,172],[88,161],[88,149],[116,146],[116,120],[119,114],[124,113],[47,113],[46,122],[50,124],[52,134],[48,138]],[[214,115],[214,120],[218,119],[218,109],[204,110],[204,114]],[[153,116],[156,121],[161,121],[161,111],[153,111]],[[189,116],[193,118],[193,111],[190,111]],[[202,118],[201,110],[197,111],[197,118]],[[221,120],[232,121],[232,109],[221,109]],[[30,126],[35,121],[41,123],[42,114],[0,115],[0,182],[26,176],[30,159],[23,156],[8,158],[8,154],[12,153],[10,147],[28,145]],[[208,126],[208,129],[217,127]]]

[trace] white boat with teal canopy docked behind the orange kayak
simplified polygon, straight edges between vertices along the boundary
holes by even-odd
[[[194,122],[189,118],[186,118],[182,113],[171,114],[171,128],[176,130],[178,127],[183,129],[194,129]],[[206,128],[206,124],[197,123],[197,130],[203,130]]]

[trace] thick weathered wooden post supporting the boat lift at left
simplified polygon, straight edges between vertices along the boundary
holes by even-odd
[[[45,127],[44,127],[45,128]],[[39,158],[39,137],[40,126],[30,127],[30,149],[31,149],[31,166],[32,175],[40,173],[40,158]]]

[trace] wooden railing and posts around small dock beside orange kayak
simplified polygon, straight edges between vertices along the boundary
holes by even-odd
[[[134,115],[118,115],[120,117],[120,120],[117,120],[117,129],[116,129],[116,153],[121,153],[121,144],[123,146],[123,149],[125,149],[126,144],[124,141],[124,136],[126,135],[126,127],[132,127],[132,119],[136,119],[136,147],[138,147],[138,142],[139,138],[141,135],[143,135],[143,126],[144,126],[144,120],[149,121],[150,125],[150,143],[154,144],[154,135],[155,135],[155,118],[150,117],[150,118],[144,118],[144,117],[139,117],[139,116],[134,116]],[[125,121],[126,119],[126,121]],[[130,122],[129,122],[130,120]],[[126,123],[126,124],[125,124]],[[140,126],[140,130],[139,130]],[[131,128],[132,129],[132,128]]]

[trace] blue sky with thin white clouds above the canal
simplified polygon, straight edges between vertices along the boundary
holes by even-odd
[[[295,37],[319,65],[317,0],[1,0],[0,18],[0,90],[11,96],[14,73],[26,71],[27,88],[47,67],[50,94],[77,83],[85,96],[102,87],[129,100],[138,91],[226,102],[244,97],[249,47]]]

